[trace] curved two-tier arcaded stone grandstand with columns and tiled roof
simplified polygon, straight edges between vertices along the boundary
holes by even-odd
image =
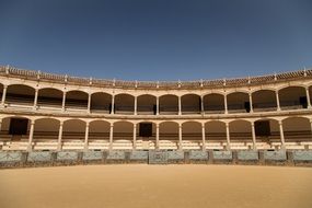
[[[0,67],[2,150],[312,149],[312,70],[188,82]]]

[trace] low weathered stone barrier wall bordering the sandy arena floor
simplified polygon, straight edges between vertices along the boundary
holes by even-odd
[[[276,151],[0,151],[0,167],[54,166],[115,163],[207,163],[312,166],[312,150]]]

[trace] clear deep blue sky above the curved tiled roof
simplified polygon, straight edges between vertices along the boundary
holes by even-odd
[[[311,0],[0,0],[0,65],[124,80],[312,67]]]

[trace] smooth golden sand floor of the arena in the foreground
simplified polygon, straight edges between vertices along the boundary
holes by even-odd
[[[1,208],[312,207],[312,169],[86,165],[0,170]]]

